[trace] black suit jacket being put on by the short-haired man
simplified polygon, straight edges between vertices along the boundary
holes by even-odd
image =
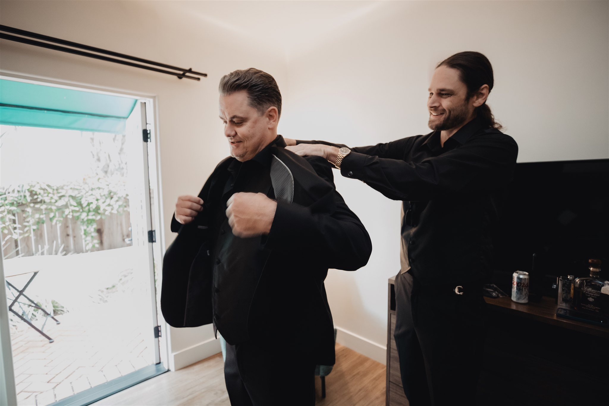
[[[292,173],[294,198],[292,203],[278,200],[270,233],[263,239],[261,249],[268,250],[269,257],[248,312],[250,337],[267,334],[281,339],[304,327],[314,362],[333,365],[333,321],[323,281],[328,268],[356,270],[367,264],[370,237],[334,188],[325,159],[302,158],[281,147],[281,142],[271,152]],[[206,181],[199,193],[203,211],[193,222],[181,225],[172,219],[172,231],[178,236],[164,256],[161,312],[173,327],[202,326],[214,320],[209,253],[216,234],[209,213],[219,209],[232,160],[220,162]]]

